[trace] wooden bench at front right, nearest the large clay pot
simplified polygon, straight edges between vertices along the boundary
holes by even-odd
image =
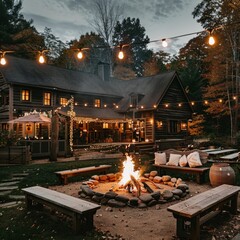
[[[223,184],[168,207],[177,220],[177,237],[200,240],[200,226],[224,207],[236,214],[239,191],[239,186]]]

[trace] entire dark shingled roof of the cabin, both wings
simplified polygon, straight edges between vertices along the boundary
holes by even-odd
[[[13,56],[7,56],[7,61],[7,65],[0,67],[0,72],[7,83],[59,89],[79,94],[119,97],[122,100],[118,103],[117,111],[120,112],[128,110],[130,95],[133,93],[141,95],[139,106],[143,105],[144,109],[153,109],[153,105],[161,102],[174,79],[182,86],[175,71],[132,80],[103,81],[92,73],[39,64],[36,61]],[[182,91],[186,96],[183,87]]]

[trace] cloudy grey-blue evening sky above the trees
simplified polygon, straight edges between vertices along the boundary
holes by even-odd
[[[192,12],[201,0],[113,0],[123,4],[123,17],[139,18],[152,43],[148,48],[177,54],[191,38],[180,37],[184,34],[202,31],[193,19]],[[45,27],[61,41],[79,39],[81,35],[94,31],[90,21],[93,17],[93,0],[22,0],[21,13],[26,20],[33,20],[33,26],[43,32]],[[166,38],[168,47],[161,46]],[[155,42],[156,40],[159,40]]]

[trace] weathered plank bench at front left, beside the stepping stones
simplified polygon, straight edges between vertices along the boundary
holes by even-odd
[[[34,203],[48,206],[72,218],[72,228],[75,233],[93,228],[93,215],[101,206],[82,199],[56,192],[39,186],[24,188],[27,208]]]

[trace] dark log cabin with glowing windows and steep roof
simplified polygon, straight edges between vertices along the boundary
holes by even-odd
[[[0,130],[33,110],[50,114],[57,109],[69,118],[69,106],[63,105],[73,97],[75,144],[155,142],[188,135],[192,108],[174,71],[119,80],[104,76],[106,71],[94,75],[12,56],[7,61],[0,67]],[[25,136],[24,129],[18,130]]]

